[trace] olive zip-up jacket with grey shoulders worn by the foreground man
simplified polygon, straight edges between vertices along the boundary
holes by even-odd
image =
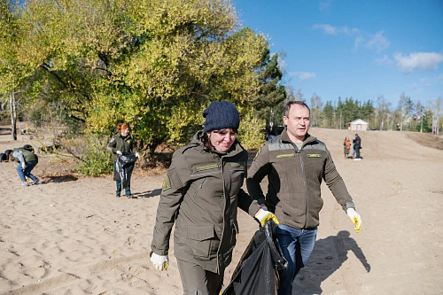
[[[260,188],[265,176],[268,176],[266,198]],[[285,129],[280,136],[261,146],[253,159],[246,183],[251,197],[259,204],[266,203],[280,224],[310,229],[319,224],[323,180],[345,211],[355,207],[326,145],[307,134],[298,149]]]

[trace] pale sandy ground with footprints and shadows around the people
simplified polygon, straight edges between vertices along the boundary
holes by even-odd
[[[443,294],[443,151],[408,132],[360,131],[361,161],[345,159],[354,131],[312,128],[327,144],[363,221],[360,233],[323,184],[315,250],[294,294]],[[0,152],[33,144],[0,135]],[[182,294],[171,240],[169,268],[149,261],[164,174],[134,175],[137,198],[115,198],[111,175],[50,175],[42,155],[21,187],[13,162],[0,163],[0,294]],[[61,164],[63,165],[63,164]],[[258,223],[239,214],[233,269]]]

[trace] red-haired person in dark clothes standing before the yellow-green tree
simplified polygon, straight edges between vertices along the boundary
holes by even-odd
[[[115,192],[115,195],[117,198],[120,198],[120,192],[121,192],[121,181],[120,176],[116,172],[116,161],[117,157],[122,154],[128,154],[128,153],[136,153],[136,157],[139,157],[138,150],[137,150],[137,144],[136,140],[133,136],[131,136],[129,126],[126,123],[119,123],[117,125],[117,128],[119,132],[113,136],[109,144],[107,145],[107,150],[113,152],[113,168],[114,168],[114,180],[117,185],[117,190]],[[132,198],[131,188],[130,184],[125,188],[125,195],[128,198]]]

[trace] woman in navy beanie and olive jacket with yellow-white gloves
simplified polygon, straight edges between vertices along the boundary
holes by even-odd
[[[261,225],[276,217],[241,189],[248,157],[237,141],[240,117],[236,106],[229,101],[212,102],[203,117],[205,128],[175,151],[167,170],[151,261],[159,270],[167,268],[175,223],[174,254],[183,294],[218,295],[236,245],[237,207]]]

